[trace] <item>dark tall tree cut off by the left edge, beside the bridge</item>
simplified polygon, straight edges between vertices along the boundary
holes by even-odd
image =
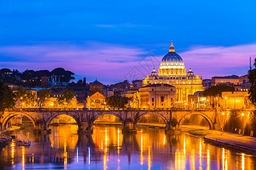
[[[0,74],[0,116],[7,108],[13,108],[15,105],[14,94],[11,89],[3,82],[2,74]]]

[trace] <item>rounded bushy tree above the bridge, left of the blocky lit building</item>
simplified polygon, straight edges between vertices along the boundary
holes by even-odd
[[[122,97],[120,95],[113,95],[107,98],[106,103],[110,107],[114,108],[124,108],[126,104],[128,104],[130,98]]]

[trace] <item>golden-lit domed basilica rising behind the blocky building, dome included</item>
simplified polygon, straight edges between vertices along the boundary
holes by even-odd
[[[191,69],[186,73],[184,62],[175,52],[172,44],[169,52],[162,58],[158,73],[154,69],[150,75],[143,78],[143,86],[159,83],[170,84],[176,88],[176,102],[185,105],[188,95],[193,95],[196,91],[204,91],[202,78],[195,75]]]

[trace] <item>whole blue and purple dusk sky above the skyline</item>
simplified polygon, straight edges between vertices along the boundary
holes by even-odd
[[[171,40],[187,71],[245,75],[256,58],[256,1],[1,1],[0,69],[63,67],[75,81],[142,79]],[[254,67],[254,66],[253,66]]]

